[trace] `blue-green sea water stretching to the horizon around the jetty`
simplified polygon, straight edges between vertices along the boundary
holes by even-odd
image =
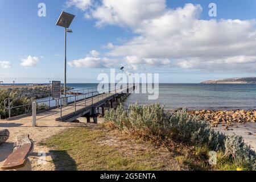
[[[74,89],[97,88],[97,85],[68,84]],[[123,105],[127,107],[135,102],[159,102],[167,110],[178,107],[191,110],[256,109],[256,84],[159,84],[157,100],[148,100],[148,94],[131,94]]]

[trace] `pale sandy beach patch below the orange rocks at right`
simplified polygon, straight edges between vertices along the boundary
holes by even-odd
[[[244,124],[237,123],[234,126],[229,127],[229,130],[225,130],[225,127],[226,126],[219,125],[218,127],[215,127],[214,130],[228,135],[240,135],[245,139],[245,142],[256,151],[256,122],[247,122]]]

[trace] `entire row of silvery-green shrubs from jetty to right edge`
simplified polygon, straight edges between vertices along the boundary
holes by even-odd
[[[185,109],[174,114],[166,113],[160,104],[132,104],[126,111],[123,106],[106,111],[105,121],[119,129],[129,129],[139,135],[160,139],[173,139],[193,146],[207,146],[209,150],[224,152],[237,166],[256,169],[256,155],[242,137],[226,137],[214,131],[208,122],[192,117]]]

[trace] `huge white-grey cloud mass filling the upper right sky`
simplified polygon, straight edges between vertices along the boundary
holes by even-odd
[[[106,54],[123,57],[136,65],[170,65],[184,69],[232,69],[250,72],[256,68],[256,22],[239,19],[200,19],[200,5],[188,3],[171,9],[165,0],[102,0],[86,14],[96,26],[129,28],[137,36],[114,45]],[[133,55],[133,56],[130,56]]]

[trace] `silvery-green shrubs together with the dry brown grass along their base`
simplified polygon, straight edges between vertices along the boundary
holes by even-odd
[[[192,170],[256,168],[256,154],[242,137],[217,133],[208,122],[191,117],[185,109],[170,114],[165,113],[164,106],[158,103],[152,105],[137,103],[130,105],[128,110],[121,105],[116,110],[106,111],[105,121],[113,122],[119,130],[127,131],[135,138],[167,148],[180,165]],[[216,166],[209,164],[210,151],[216,151],[217,155],[222,152],[225,154],[221,158],[218,157]]]

